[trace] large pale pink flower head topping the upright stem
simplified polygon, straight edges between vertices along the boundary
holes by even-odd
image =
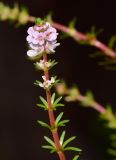
[[[57,43],[57,31],[48,22],[43,25],[29,27],[27,42],[30,50],[27,51],[29,57],[41,56],[43,52],[54,53],[55,48],[60,44]]]

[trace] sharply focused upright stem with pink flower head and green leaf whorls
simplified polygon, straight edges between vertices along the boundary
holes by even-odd
[[[36,80],[35,84],[45,90],[47,100],[43,97],[40,97],[42,104],[38,104],[38,107],[48,111],[50,120],[50,124],[47,124],[43,121],[38,121],[38,123],[41,126],[50,129],[53,136],[53,140],[51,140],[49,137],[44,136],[44,139],[48,142],[48,145],[44,145],[42,147],[50,150],[51,153],[57,152],[60,160],[66,160],[66,156],[64,153],[65,151],[73,150],[76,152],[80,152],[81,149],[67,146],[76,138],[75,136],[64,141],[66,132],[63,131],[61,136],[59,137],[59,127],[65,126],[66,123],[69,122],[69,120],[61,120],[63,112],[61,112],[56,119],[54,116],[54,110],[57,110],[58,107],[62,107],[64,105],[60,103],[62,97],[55,99],[55,93],[51,95],[52,86],[58,83],[59,80],[56,80],[54,77],[50,78],[49,69],[51,69],[51,67],[56,63],[55,60],[48,61],[47,55],[55,53],[55,48],[60,45],[60,43],[57,43],[58,33],[56,29],[50,25],[50,23],[44,22],[40,19],[37,19],[36,25],[33,27],[29,27],[27,32],[27,42],[29,44],[29,47],[31,48],[29,51],[27,51],[27,55],[30,58],[35,59],[36,68],[44,72],[44,75],[42,76],[43,82]],[[79,156],[77,154],[73,158],[73,160],[77,160],[78,157]]]

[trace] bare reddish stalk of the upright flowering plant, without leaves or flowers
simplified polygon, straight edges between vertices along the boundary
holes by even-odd
[[[47,62],[47,54],[46,53],[43,54],[43,59],[44,59],[44,63],[46,63]],[[49,80],[48,69],[46,69],[44,71],[44,74],[45,74],[46,80]],[[56,145],[57,153],[58,153],[60,160],[66,160],[64,152],[61,151],[59,135],[58,135],[58,131],[57,131],[57,128],[55,125],[55,116],[54,116],[54,112],[53,112],[53,106],[51,103],[51,91],[50,90],[46,90],[46,97],[47,97],[47,102],[48,102],[48,107],[49,107],[49,109],[48,109],[49,120],[50,120],[50,125],[53,128],[52,135],[53,135],[54,143]]]

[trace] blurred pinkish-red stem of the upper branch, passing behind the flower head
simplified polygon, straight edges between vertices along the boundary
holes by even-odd
[[[35,22],[35,19],[36,19],[36,17],[30,16],[29,22]],[[54,21],[50,21],[50,23],[52,24],[53,27],[55,27],[56,29],[58,29],[62,32],[67,33],[70,37],[72,37],[76,41],[78,41],[78,42],[86,41],[86,42],[88,42],[88,44],[101,50],[104,55],[110,57],[111,59],[116,59],[116,51],[112,50],[107,45],[100,42],[98,39],[90,38],[88,35],[81,33],[79,31],[77,31],[76,29],[64,26],[64,25],[56,23]]]

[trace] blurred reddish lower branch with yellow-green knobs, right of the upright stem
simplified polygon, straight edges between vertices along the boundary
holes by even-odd
[[[104,107],[98,103],[93,96],[93,93],[88,91],[82,95],[77,87],[67,88],[65,83],[58,84],[56,90],[60,95],[65,95],[67,102],[78,101],[84,107],[91,107],[96,110],[102,119],[108,122],[110,128],[116,128],[116,117],[110,105]]]

